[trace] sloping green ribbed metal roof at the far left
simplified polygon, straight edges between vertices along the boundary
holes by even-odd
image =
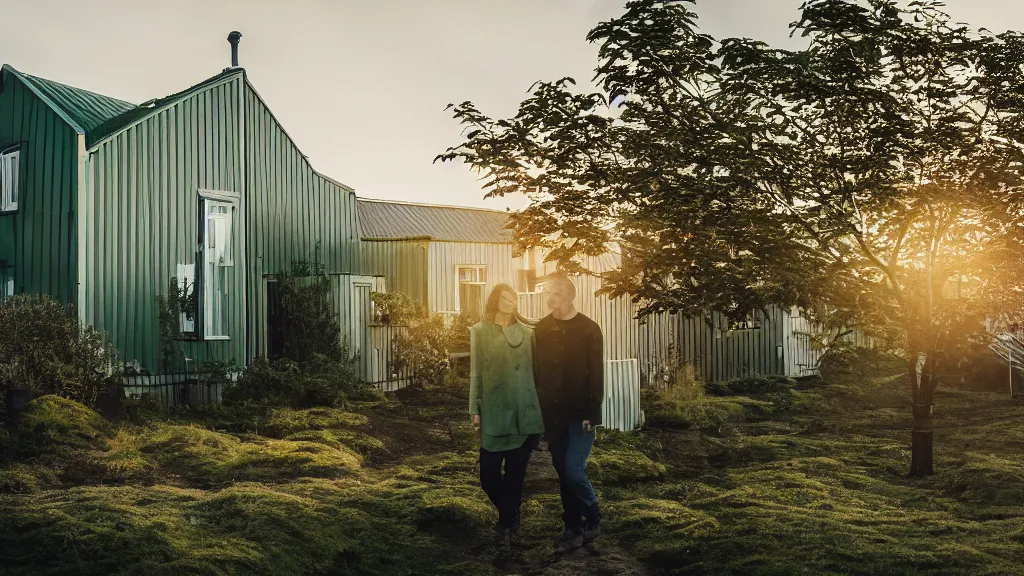
[[[4,65],[3,70],[20,79],[30,90],[52,108],[58,116],[67,120],[72,128],[79,133],[88,133],[112,118],[136,108],[135,105],[118,98],[75,88],[38,76],[22,74],[10,65]]]

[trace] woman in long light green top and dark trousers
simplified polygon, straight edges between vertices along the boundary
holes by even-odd
[[[500,284],[470,328],[469,413],[480,430],[480,486],[498,508],[502,551],[511,551],[529,455],[544,433],[534,384],[534,331]],[[505,474],[502,474],[502,465]]]

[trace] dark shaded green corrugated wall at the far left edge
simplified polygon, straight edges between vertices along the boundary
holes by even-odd
[[[75,131],[13,75],[0,93],[0,149],[20,142],[18,205],[0,214],[0,260],[16,292],[76,297],[78,140]]]

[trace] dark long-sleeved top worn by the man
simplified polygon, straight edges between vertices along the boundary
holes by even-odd
[[[582,314],[569,320],[548,315],[534,333],[534,378],[545,437],[557,437],[570,422],[600,424],[604,397],[601,327]]]

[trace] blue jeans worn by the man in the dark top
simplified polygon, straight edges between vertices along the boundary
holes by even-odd
[[[594,446],[594,431],[585,433],[583,422],[570,422],[557,435],[547,434],[551,462],[558,472],[558,486],[562,496],[562,522],[565,528],[577,529],[597,526],[600,512],[594,487],[587,480],[587,458]]]

